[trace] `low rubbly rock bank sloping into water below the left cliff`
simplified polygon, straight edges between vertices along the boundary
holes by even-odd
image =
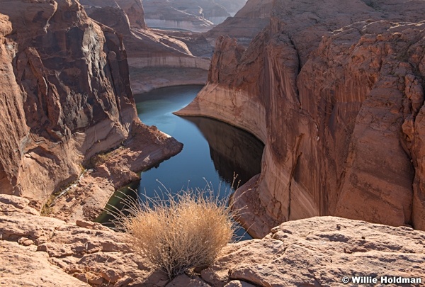
[[[182,148],[183,144],[156,127],[133,123],[122,146],[92,158],[89,170],[52,196],[43,212],[67,222],[96,220],[115,190],[140,180],[140,171],[157,166]]]

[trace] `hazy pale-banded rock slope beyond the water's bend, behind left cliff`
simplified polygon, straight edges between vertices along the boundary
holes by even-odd
[[[135,94],[163,86],[205,84],[210,59],[193,55],[179,38],[133,25],[129,9],[123,8],[129,6],[129,1],[84,0],[81,4],[85,4],[91,18],[122,36]],[[139,17],[134,12],[133,18],[143,15],[143,10]]]

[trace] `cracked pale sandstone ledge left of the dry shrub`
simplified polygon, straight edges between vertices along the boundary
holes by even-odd
[[[0,283],[7,286],[165,286],[166,275],[98,223],[35,215],[26,198],[0,196]]]

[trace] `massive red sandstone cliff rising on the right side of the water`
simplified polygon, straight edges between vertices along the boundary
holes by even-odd
[[[315,215],[424,229],[418,9],[425,1],[276,1],[246,50],[217,40],[207,86],[179,113],[266,144],[242,199],[258,213],[252,234]]]

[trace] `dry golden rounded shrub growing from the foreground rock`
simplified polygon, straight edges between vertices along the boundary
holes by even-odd
[[[163,269],[169,278],[212,264],[232,240],[234,222],[227,198],[212,192],[183,191],[166,199],[132,203],[130,216],[120,218],[130,247]]]

